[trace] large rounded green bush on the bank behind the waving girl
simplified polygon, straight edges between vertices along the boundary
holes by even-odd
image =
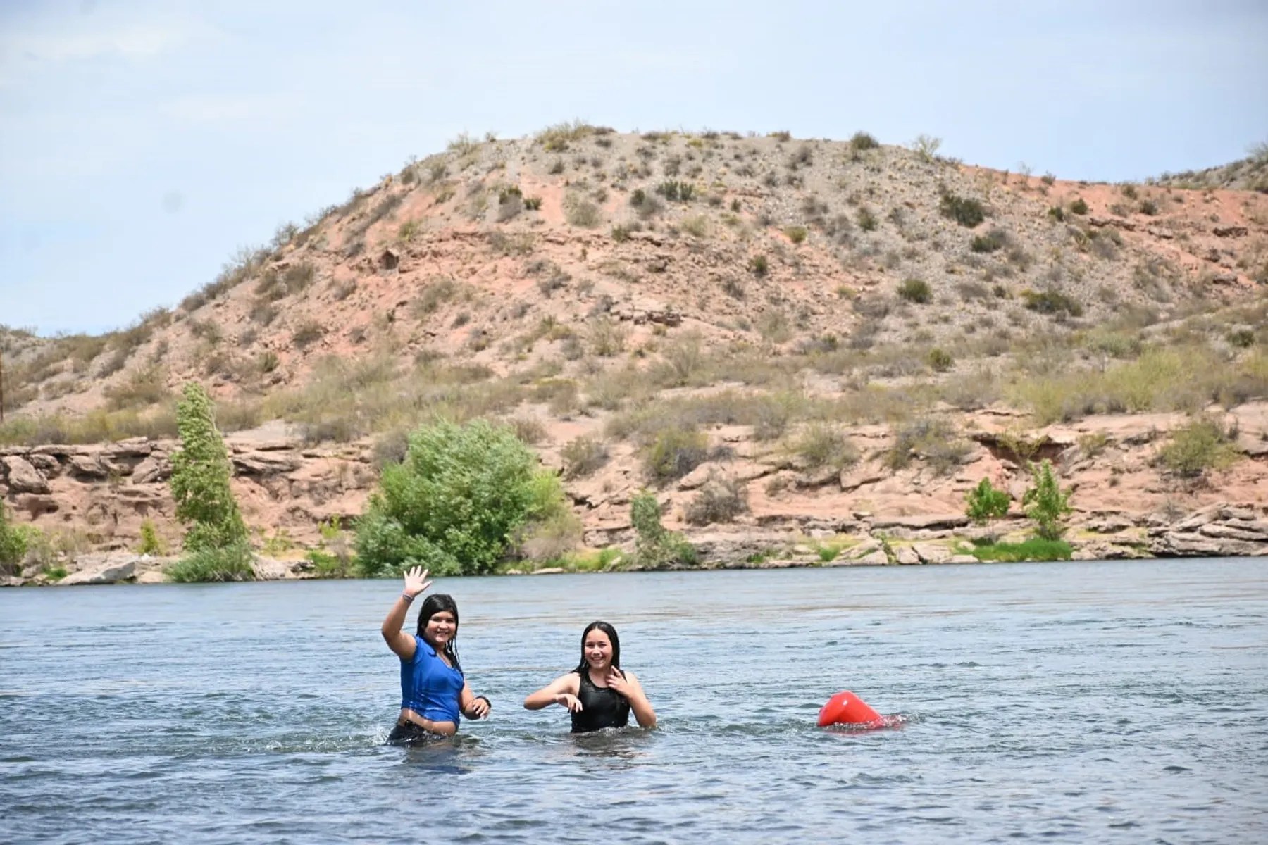
[[[434,575],[491,571],[521,528],[566,508],[563,486],[505,426],[437,421],[384,467],[356,531],[363,575],[420,565]]]

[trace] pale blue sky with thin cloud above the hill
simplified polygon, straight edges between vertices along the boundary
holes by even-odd
[[[1265,44],[1265,0],[0,0],[0,323],[127,326],[464,130],[1220,165],[1268,141]]]

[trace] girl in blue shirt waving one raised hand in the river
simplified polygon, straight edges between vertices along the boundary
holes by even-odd
[[[383,639],[401,658],[401,715],[388,742],[412,745],[458,732],[459,715],[488,716],[489,701],[472,696],[458,663],[458,604],[435,593],[418,608],[418,632],[401,630],[415,597],[431,587],[427,571],[413,566],[404,574],[404,590],[383,619]]]

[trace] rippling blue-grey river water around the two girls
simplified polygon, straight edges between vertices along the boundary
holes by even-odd
[[[488,721],[383,745],[396,581],[0,592],[9,842],[1250,842],[1268,560],[448,579]],[[661,726],[520,702],[621,635]],[[411,617],[411,627],[412,627]],[[852,689],[896,728],[815,727]]]

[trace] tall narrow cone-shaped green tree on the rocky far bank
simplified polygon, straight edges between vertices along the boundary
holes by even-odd
[[[171,457],[171,494],[176,518],[189,527],[185,550],[245,549],[249,535],[230,489],[228,451],[203,385],[185,385],[184,398],[176,404],[176,429],[180,451]]]

